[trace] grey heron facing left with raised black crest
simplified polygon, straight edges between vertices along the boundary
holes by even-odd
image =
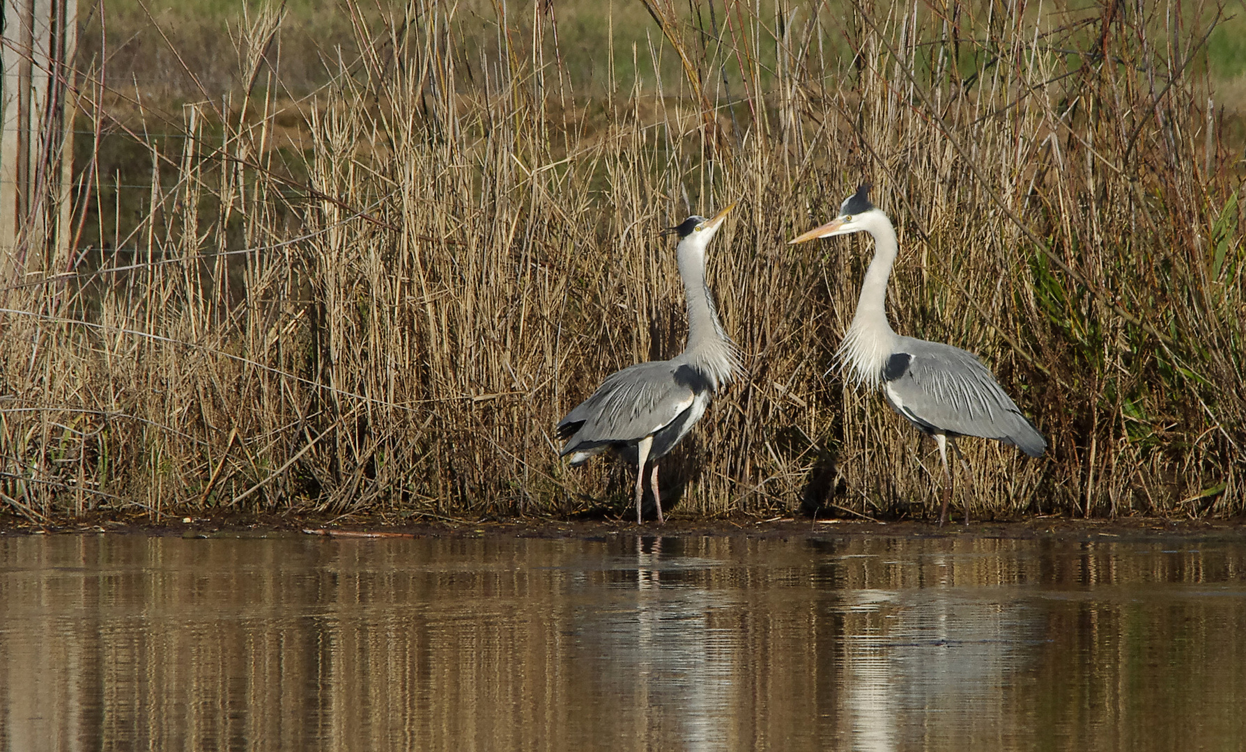
[[[959,347],[896,334],[887,321],[887,279],[900,247],[891,220],[870,203],[870,184],[857,188],[840,205],[840,215],[799,235],[791,243],[866,232],[873,237],[873,260],[861,283],[856,315],[840,346],[840,364],[857,385],[882,387],[887,403],[917,427],[933,436],[943,463],[943,507],[947,522],[952,473],[947,466],[947,439],[981,436],[1015,444],[1030,457],[1047,451],[1047,439],[1025,420],[982,361]],[[969,524],[969,503],[964,504]]]

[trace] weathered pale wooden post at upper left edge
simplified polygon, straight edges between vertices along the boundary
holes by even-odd
[[[0,0],[0,285],[72,243],[76,0]]]

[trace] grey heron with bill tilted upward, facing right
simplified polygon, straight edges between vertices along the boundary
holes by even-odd
[[[675,255],[688,304],[688,342],[670,360],[637,364],[606,377],[597,391],[558,421],[566,439],[559,457],[571,454],[572,467],[606,449],[614,449],[637,466],[635,522],[640,523],[644,466],[653,462],[653,503],[662,515],[658,458],[663,457],[700,420],[710,398],[740,372],[735,344],[723,331],[709,288],[705,286],[705,249],[731,204],[713,219],[693,215],[663,234],[679,235]]]

